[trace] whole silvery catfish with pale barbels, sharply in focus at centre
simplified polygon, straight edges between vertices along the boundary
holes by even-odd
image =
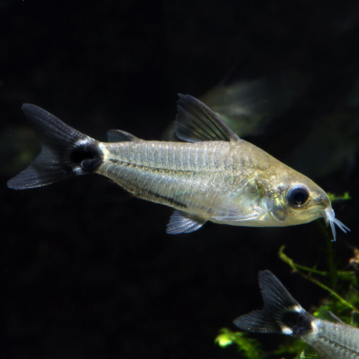
[[[326,192],[311,179],[238,137],[211,109],[179,94],[177,137],[186,142],[145,141],[110,130],[107,143],[66,125],[30,104],[22,109],[42,151],[10,179],[13,189],[45,186],[98,173],[144,200],[175,208],[167,233],[188,233],[206,221],[235,226],[303,224],[334,217]]]

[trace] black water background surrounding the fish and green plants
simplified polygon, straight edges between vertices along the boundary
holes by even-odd
[[[308,4],[0,2],[1,357],[240,358],[214,338],[261,306],[259,270],[272,270],[307,309],[327,295],[277,256],[285,244],[297,262],[327,269],[330,233],[318,221],[208,223],[170,236],[170,208],[117,200],[99,176],[6,187],[38,151],[22,103],[102,141],[110,128],[159,139],[178,92],[294,72],[308,79],[305,93],[246,139],[322,188],[349,191],[351,201],[333,205],[352,230],[338,230],[333,244],[344,268],[348,245],[358,245],[359,7]],[[316,173],[324,161],[329,169]],[[268,350],[286,340],[253,337]]]

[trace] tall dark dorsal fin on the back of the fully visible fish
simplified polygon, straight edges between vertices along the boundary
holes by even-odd
[[[177,109],[174,132],[183,141],[240,141],[218,115],[195,97],[178,93]]]

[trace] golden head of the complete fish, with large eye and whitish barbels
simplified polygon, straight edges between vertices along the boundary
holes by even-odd
[[[334,241],[334,225],[344,232],[349,231],[335,218],[327,193],[308,177],[297,174],[300,176],[295,176],[294,180],[283,181],[267,191],[267,209],[272,218],[284,226],[291,226],[323,217],[331,227]]]

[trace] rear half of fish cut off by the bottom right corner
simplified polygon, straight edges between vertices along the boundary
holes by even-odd
[[[306,312],[269,270],[258,274],[264,308],[241,315],[234,324],[255,333],[280,333],[300,338],[326,359],[359,358],[359,329],[328,322]]]

